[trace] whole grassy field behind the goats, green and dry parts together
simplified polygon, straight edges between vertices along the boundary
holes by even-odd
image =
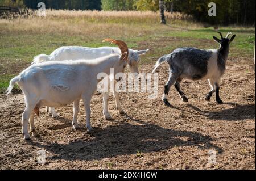
[[[65,15],[70,12],[63,12]],[[213,28],[167,16],[168,24],[158,22],[158,16],[144,16],[140,12],[127,18],[115,12],[114,16],[68,15],[49,12],[46,18],[0,19],[0,90],[6,90],[14,75],[30,65],[38,54],[50,54],[63,45],[100,47],[106,37],[122,39],[130,48],[147,49],[150,53],[143,62],[156,61],[177,47],[218,48],[212,36],[218,36]],[[62,17],[62,18],[61,18]],[[103,18],[102,18],[103,17]],[[254,53],[255,28],[220,27],[222,33],[237,34],[231,46],[230,57],[251,58]]]

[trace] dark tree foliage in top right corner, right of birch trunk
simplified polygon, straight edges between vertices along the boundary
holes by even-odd
[[[209,24],[254,24],[255,0],[189,0],[174,2],[174,10]],[[217,16],[208,16],[208,4],[216,3]]]

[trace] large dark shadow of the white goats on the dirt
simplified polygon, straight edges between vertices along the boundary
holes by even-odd
[[[222,149],[213,145],[213,139],[196,132],[164,129],[155,124],[134,120],[134,124],[119,123],[104,129],[95,128],[90,141],[75,141],[68,144],[31,142],[32,145],[54,154],[51,159],[98,160],[119,155],[155,153],[174,147],[197,146],[199,149]]]

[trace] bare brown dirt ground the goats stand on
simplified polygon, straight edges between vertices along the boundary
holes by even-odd
[[[58,108],[57,119],[41,109],[35,117],[40,137],[31,141],[21,134],[23,95],[0,95],[0,169],[255,169],[255,73],[248,64],[252,60],[231,62],[221,79],[222,105],[215,94],[205,102],[207,81],[184,80],[189,102],[181,102],[172,87],[172,107],[164,106],[168,66],[162,65],[157,99],[121,94],[127,115],[119,115],[110,96],[113,120],[105,120],[102,96],[94,95],[92,132],[85,129],[82,102],[78,131],[72,129],[72,105]],[[141,71],[151,72],[152,66]],[[44,164],[38,163],[39,150],[46,153]]]

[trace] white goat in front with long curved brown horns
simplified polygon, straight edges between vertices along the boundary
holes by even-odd
[[[33,135],[38,134],[34,125],[34,112],[39,115],[39,108],[44,106],[63,107],[73,102],[73,128],[78,129],[77,114],[80,99],[84,102],[86,110],[86,128],[92,130],[90,124],[90,101],[94,95],[99,73],[110,74],[114,68],[115,74],[123,72],[127,65],[129,55],[128,47],[121,40],[112,41],[121,49],[119,54],[97,58],[95,60],[77,61],[49,61],[34,64],[23,70],[17,77],[11,79],[7,89],[10,94],[15,83],[18,83],[24,94],[26,108],[22,114],[22,134],[24,139],[30,139],[28,134],[28,120]]]

